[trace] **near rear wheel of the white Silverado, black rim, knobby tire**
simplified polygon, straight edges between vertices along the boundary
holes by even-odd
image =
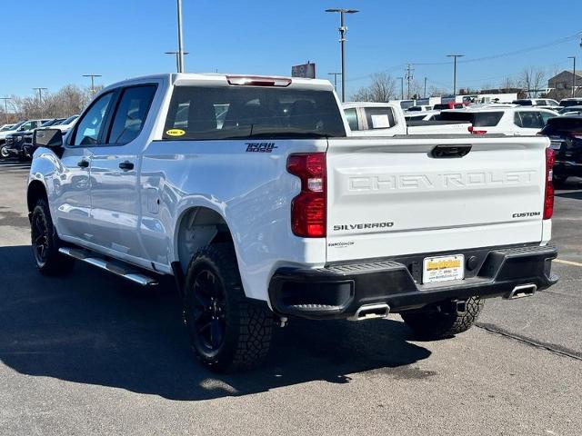
[[[216,372],[247,370],[268,352],[273,313],[246,298],[232,244],[215,243],[186,272],[184,316],[196,357]]]

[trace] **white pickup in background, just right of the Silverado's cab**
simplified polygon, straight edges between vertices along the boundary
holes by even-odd
[[[396,136],[399,134],[468,134],[471,123],[466,120],[409,121],[400,104],[344,103],[350,136]],[[414,113],[411,113],[414,114]]]

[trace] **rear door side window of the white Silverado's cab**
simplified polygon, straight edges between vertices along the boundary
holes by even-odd
[[[117,104],[107,144],[127,144],[142,131],[156,85],[125,88]]]

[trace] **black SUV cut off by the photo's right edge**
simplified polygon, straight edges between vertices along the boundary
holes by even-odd
[[[582,177],[582,116],[550,118],[541,134],[549,137],[556,152],[554,181],[564,183],[571,175]]]

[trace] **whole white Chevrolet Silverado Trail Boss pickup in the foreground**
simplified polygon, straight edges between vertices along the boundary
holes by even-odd
[[[557,281],[545,137],[356,138],[327,81],[164,74],[95,96],[65,140],[36,130],[40,272],[173,275],[198,359],[255,366],[292,317],[400,313],[466,331],[484,299]],[[75,282],[75,276],[71,276]]]

